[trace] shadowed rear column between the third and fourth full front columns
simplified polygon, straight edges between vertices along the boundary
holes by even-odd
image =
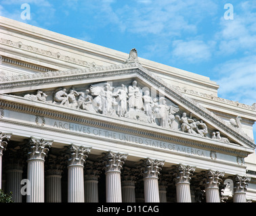
[[[123,202],[135,202],[135,169],[124,167],[121,179],[122,179],[122,201]]]

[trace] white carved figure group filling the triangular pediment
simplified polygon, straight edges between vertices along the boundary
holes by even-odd
[[[37,90],[37,94],[26,94],[24,98],[33,101],[54,103],[73,109],[100,113],[112,117],[125,117],[154,124],[165,129],[179,130],[196,136],[208,137],[221,142],[229,142],[221,137],[219,131],[209,131],[202,119],[192,116],[192,113],[179,109],[179,106],[165,97],[153,97],[150,90],[138,86],[133,80],[126,86],[111,86],[108,82],[91,84],[84,91],[78,91],[72,86],[57,88],[53,92],[52,101],[46,100],[47,94]]]

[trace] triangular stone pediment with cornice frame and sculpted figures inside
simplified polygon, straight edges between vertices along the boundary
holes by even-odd
[[[59,105],[97,116],[116,117],[120,121],[140,121],[145,125],[178,132],[179,136],[186,134],[255,148],[249,136],[143,68],[137,61],[1,79],[1,100],[22,98],[25,104],[31,101],[34,105],[43,103],[45,109]]]

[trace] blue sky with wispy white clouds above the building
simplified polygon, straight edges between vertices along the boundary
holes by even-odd
[[[23,3],[30,20],[20,16]],[[208,76],[219,97],[256,103],[256,0],[1,0],[0,15],[125,53],[136,48]]]

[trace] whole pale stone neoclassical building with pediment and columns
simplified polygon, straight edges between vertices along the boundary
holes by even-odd
[[[255,105],[205,76],[0,18],[15,202],[256,202]]]

